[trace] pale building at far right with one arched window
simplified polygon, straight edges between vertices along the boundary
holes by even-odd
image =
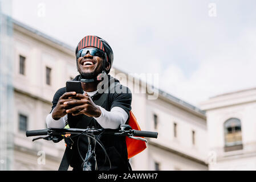
[[[256,88],[209,98],[206,111],[210,170],[256,170]]]

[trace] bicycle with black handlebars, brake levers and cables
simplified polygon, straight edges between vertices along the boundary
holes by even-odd
[[[77,137],[79,142],[79,138],[81,136],[86,136],[88,138],[88,151],[86,157],[83,159],[79,148],[78,152],[80,158],[83,160],[83,171],[97,171],[97,162],[96,162],[96,154],[95,148],[96,143],[102,148],[105,154],[105,162],[108,159],[109,161],[109,169],[111,169],[111,162],[109,160],[108,154],[105,151],[103,144],[99,140],[100,135],[115,135],[115,136],[127,136],[128,138],[133,138],[136,140],[143,140],[147,142],[147,139],[141,137],[148,137],[148,138],[157,138],[158,133],[153,131],[140,131],[140,130],[133,130],[129,125],[120,125],[120,129],[95,129],[94,127],[87,129],[43,129],[43,130],[30,130],[26,131],[26,137],[34,137],[34,136],[42,136],[47,135],[45,137],[38,137],[32,139],[32,142],[38,139],[45,139],[45,140],[52,140],[54,143],[60,142],[60,140],[64,139],[68,147],[72,147],[72,137]],[[67,137],[68,135],[68,137]],[[77,145],[79,146],[79,145]]]

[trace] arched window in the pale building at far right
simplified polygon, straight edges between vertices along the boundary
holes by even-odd
[[[237,118],[227,119],[224,123],[225,151],[242,149],[241,121]]]

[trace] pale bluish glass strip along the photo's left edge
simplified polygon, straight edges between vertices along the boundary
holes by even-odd
[[[14,44],[11,1],[0,0],[0,170],[13,165]]]

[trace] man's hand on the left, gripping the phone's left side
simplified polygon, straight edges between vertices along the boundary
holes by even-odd
[[[52,111],[53,119],[58,120],[59,118],[62,118],[64,115],[67,114],[66,109],[68,109],[68,107],[63,103],[75,100],[74,98],[72,98],[72,96],[75,96],[75,94],[75,92],[66,92],[59,98],[59,101],[56,107],[54,108],[54,111]]]

